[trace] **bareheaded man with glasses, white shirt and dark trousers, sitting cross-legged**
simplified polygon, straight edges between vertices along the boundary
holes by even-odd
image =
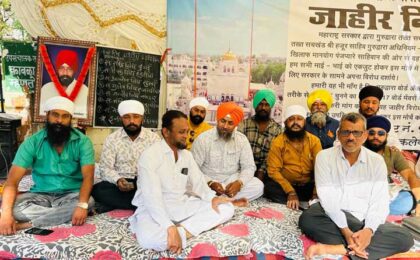
[[[299,219],[302,232],[318,242],[305,257],[349,254],[352,259],[380,259],[409,250],[414,244],[409,232],[385,223],[386,165],[382,156],[363,147],[366,119],[358,113],[344,115],[337,135],[341,145],[321,151],[316,158],[320,203]]]

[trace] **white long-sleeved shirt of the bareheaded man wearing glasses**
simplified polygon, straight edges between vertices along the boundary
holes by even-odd
[[[361,149],[352,166],[341,145],[321,151],[315,184],[322,207],[339,228],[348,227],[347,211],[375,232],[389,214],[387,170],[381,155]]]

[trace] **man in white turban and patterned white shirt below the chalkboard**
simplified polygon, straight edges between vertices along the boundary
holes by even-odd
[[[141,153],[160,141],[157,134],[142,127],[144,106],[137,100],[118,105],[123,127],[110,134],[104,143],[99,172],[101,182],[95,184],[92,196],[99,205],[98,213],[113,209],[135,209],[131,204],[136,193],[137,162]]]

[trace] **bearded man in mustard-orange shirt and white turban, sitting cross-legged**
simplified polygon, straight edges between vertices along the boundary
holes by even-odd
[[[306,207],[316,199],[315,157],[322,150],[319,138],[305,131],[306,110],[300,105],[285,110],[285,131],[277,136],[267,157],[268,180],[264,195],[288,208]]]

